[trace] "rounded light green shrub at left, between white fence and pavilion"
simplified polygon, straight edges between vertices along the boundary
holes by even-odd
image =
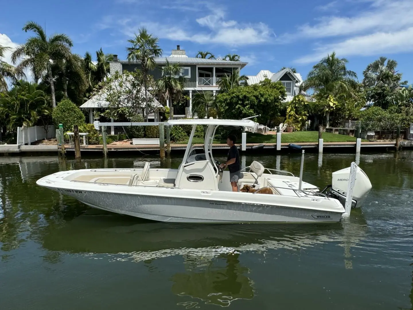
[[[73,128],[73,125],[85,124],[85,115],[83,112],[69,99],[61,100],[52,112],[53,123],[55,128],[59,124],[63,124],[63,131],[68,131]]]

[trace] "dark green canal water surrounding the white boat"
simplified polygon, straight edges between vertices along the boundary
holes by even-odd
[[[223,160],[224,157],[218,158]],[[165,224],[41,188],[62,169],[159,166],[156,157],[0,157],[1,309],[412,309],[413,152],[361,155],[373,190],[323,225]],[[298,174],[300,155],[242,156]],[[354,155],[307,154],[330,183]],[[169,165],[178,167],[179,157]]]

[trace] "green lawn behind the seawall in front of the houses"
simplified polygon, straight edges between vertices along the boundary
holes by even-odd
[[[332,134],[323,132],[324,142],[356,142],[356,138],[346,135]],[[362,140],[367,141],[367,140]],[[203,144],[204,139],[194,138],[195,144]],[[238,144],[241,141],[237,141]],[[263,135],[247,133],[247,143],[276,143],[276,135]],[[296,131],[292,133],[281,134],[282,143],[299,143],[299,142],[318,142],[318,131]],[[180,141],[179,144],[188,143],[188,138],[185,141]],[[214,143],[226,143],[224,140],[214,140]]]

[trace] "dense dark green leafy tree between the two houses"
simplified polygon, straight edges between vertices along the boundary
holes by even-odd
[[[285,98],[285,87],[280,81],[265,79],[259,84],[235,87],[219,93],[216,95],[216,104],[223,118],[242,119],[261,114],[259,122],[267,124],[279,115]]]

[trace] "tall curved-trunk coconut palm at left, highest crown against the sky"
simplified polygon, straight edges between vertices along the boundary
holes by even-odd
[[[55,84],[53,83],[52,63],[62,59],[68,59],[71,55],[70,48],[73,42],[64,33],[57,33],[47,38],[42,26],[34,21],[28,21],[24,31],[33,31],[35,37],[27,39],[25,44],[19,45],[12,53],[12,62],[17,64],[20,58],[23,60],[17,66],[21,71],[30,68],[35,81],[47,72],[52,93],[52,107],[56,107]]]

